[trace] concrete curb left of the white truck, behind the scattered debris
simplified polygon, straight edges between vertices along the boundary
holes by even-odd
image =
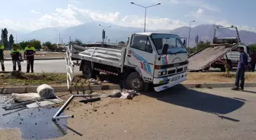
[[[52,86],[55,92],[69,92],[67,86]],[[120,89],[119,85],[91,85],[91,86],[71,86],[72,92],[83,92],[87,90],[111,90]],[[37,86],[27,87],[2,87],[0,88],[0,94],[11,93],[37,93]]]

